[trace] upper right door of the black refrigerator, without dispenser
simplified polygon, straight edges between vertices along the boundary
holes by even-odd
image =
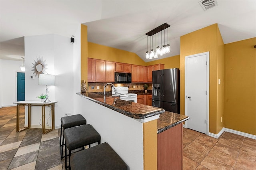
[[[162,101],[177,103],[179,91],[179,75],[178,69],[162,70]]]

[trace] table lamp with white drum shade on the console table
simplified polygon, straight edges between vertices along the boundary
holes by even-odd
[[[46,85],[46,99],[44,103],[51,102],[48,99],[48,85],[54,85],[55,84],[55,75],[51,74],[40,74],[38,79],[38,85]]]

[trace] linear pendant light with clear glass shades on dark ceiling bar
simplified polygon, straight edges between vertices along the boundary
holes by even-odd
[[[150,53],[148,52],[148,48],[147,48],[147,52],[146,52],[146,59],[153,59],[153,58],[158,58],[158,55],[162,56],[166,53],[170,52],[170,44],[168,43],[168,30],[167,30],[167,45],[165,45],[165,30],[168,29],[170,27],[169,24],[162,24],[161,26],[158,26],[157,28],[154,28],[153,30],[151,30],[150,32],[146,33],[147,36],[150,36]],[[162,31],[164,30],[164,43],[162,45]],[[161,32],[161,45],[159,45],[159,32]],[[156,46],[156,33],[158,34],[157,40],[157,46]],[[153,36],[155,35],[155,49],[154,50],[154,39]],[[151,47],[151,37],[152,37],[152,47]],[[148,47],[148,37],[147,37],[147,47]]]

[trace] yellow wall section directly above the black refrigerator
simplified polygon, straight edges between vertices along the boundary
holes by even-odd
[[[159,57],[161,58],[161,57]],[[164,69],[180,68],[180,55],[175,55],[168,58],[158,59],[146,63],[148,65],[164,64]]]

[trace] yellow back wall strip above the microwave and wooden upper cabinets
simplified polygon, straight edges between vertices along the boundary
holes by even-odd
[[[88,58],[102,59],[134,65],[146,65],[136,53],[88,42]]]

